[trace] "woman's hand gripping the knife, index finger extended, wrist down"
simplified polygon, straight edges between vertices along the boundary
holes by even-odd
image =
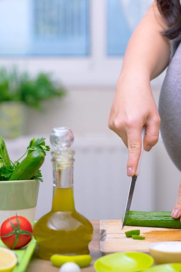
[[[151,92],[150,79],[136,73],[134,76],[133,73],[119,76],[108,126],[128,147],[127,175],[133,176],[141,154],[143,126],[146,127],[145,151],[150,151],[159,137],[160,117]]]

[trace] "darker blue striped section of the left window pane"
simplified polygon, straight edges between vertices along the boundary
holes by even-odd
[[[87,55],[88,0],[33,0],[33,54]]]

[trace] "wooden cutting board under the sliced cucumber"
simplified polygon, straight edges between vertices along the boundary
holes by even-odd
[[[181,241],[181,229],[125,226],[121,230],[122,220],[100,221],[100,251],[104,254],[120,251],[149,252],[149,244],[161,241]],[[145,240],[126,238],[125,232],[140,229]]]

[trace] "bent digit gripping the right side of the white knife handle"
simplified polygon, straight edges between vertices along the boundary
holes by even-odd
[[[144,137],[144,150],[150,151],[157,143],[160,130],[160,117],[155,115],[148,122],[146,122],[146,132]]]

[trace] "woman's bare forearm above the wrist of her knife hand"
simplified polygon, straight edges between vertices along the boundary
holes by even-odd
[[[166,28],[167,25],[154,2],[129,40],[121,75],[132,73],[133,76],[140,75],[151,80],[167,67],[170,41],[161,34]]]

